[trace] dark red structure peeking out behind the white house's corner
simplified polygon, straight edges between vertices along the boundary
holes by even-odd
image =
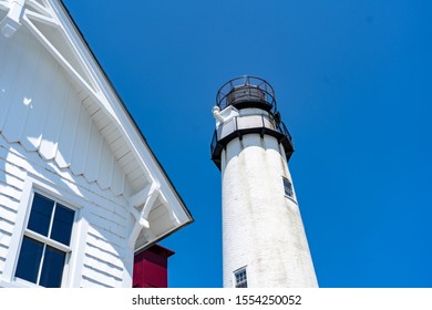
[[[153,245],[135,254],[133,283],[134,288],[167,288],[168,257],[174,251]]]

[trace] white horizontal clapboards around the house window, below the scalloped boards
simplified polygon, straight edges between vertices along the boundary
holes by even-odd
[[[80,286],[122,287],[123,272],[127,272],[125,264],[132,260],[125,248],[131,229],[125,199],[115,197],[110,190],[101,190],[97,186],[89,188],[83,177],[61,177],[35,153],[27,153],[17,143],[8,145],[1,136],[0,275],[6,264],[20,200],[23,198],[27,174],[45,179],[49,184],[54,184],[60,192],[68,192],[85,202],[82,217],[89,223],[89,229],[81,235],[84,238],[78,240],[84,245],[82,266],[74,266],[75,269],[82,270]]]

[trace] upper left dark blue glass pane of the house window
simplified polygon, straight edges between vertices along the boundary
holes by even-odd
[[[34,193],[28,228],[48,236],[54,202]]]

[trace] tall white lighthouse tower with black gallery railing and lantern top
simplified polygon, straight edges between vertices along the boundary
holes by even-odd
[[[318,287],[272,87],[251,76],[217,93],[212,159],[222,172],[226,288]]]

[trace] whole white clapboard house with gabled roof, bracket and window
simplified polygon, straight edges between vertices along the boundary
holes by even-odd
[[[61,1],[0,32],[0,287],[132,287],[191,214]]]

